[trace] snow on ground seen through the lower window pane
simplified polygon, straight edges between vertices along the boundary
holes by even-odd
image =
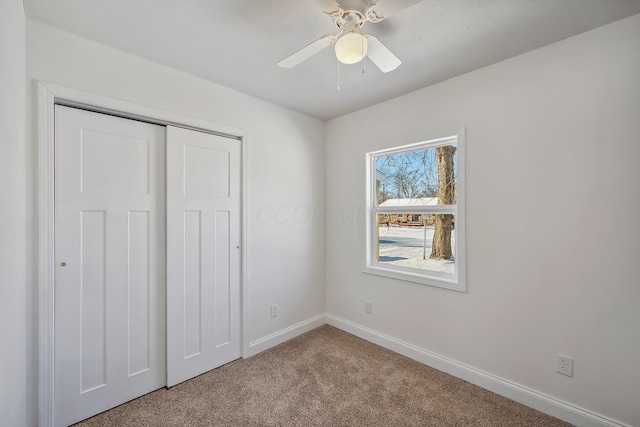
[[[427,226],[426,259],[423,259],[425,252],[425,229],[423,227],[380,227],[380,262],[454,274],[455,262],[453,260],[429,259],[433,233],[434,228]],[[451,248],[455,254],[454,243],[455,230],[451,232]]]

